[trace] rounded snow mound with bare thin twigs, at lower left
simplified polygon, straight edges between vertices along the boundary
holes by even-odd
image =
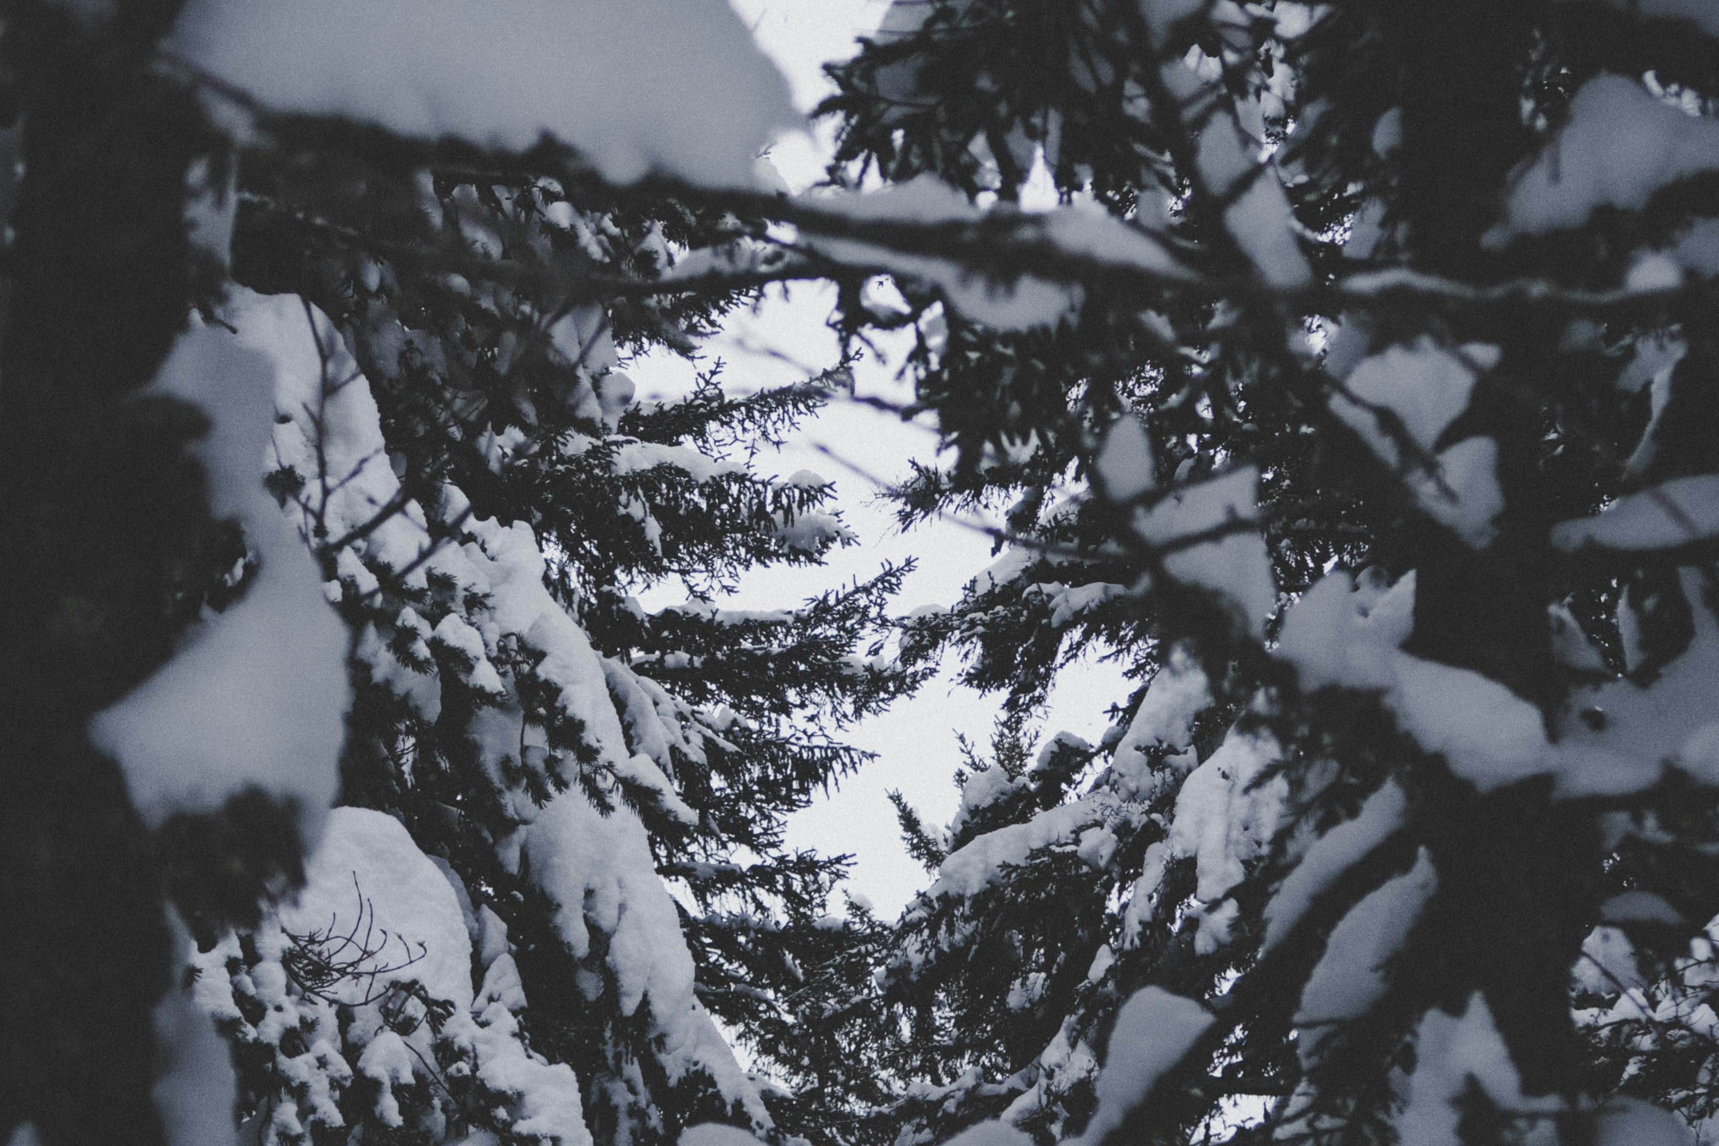
[[[351,967],[304,991],[284,962],[294,948]],[[397,1088],[428,1082],[435,1093],[428,1064],[454,1057],[450,1069],[476,1067],[490,1098],[502,1100],[493,1112],[511,1119],[516,1134],[545,1146],[591,1143],[572,1069],[545,1062],[521,1038],[512,1010],[524,1007],[524,991],[512,959],[493,957],[474,1000],[459,893],[406,828],[382,813],[332,813],[299,902],[265,916],[253,957],[229,933],[191,960],[199,972],[191,988],[196,1005],[230,1024],[239,1041],[273,1052],[282,1089],[272,1117],[249,1124],[246,1136],[273,1144],[346,1127],[339,1098],[359,1077],[375,1084],[376,1117],[404,1125]],[[406,984],[409,993],[392,990]],[[239,991],[261,1007],[254,1026],[237,1005]],[[419,991],[449,1005],[440,1026],[425,1021]],[[291,1043],[284,1038],[289,1031],[297,1034]],[[225,1048],[220,1052],[225,1062]],[[230,1101],[210,1105],[223,1122],[230,1108]]]

